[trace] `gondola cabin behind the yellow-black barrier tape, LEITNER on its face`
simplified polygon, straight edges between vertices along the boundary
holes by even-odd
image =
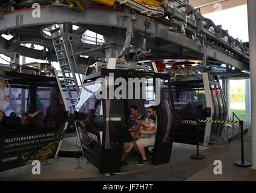
[[[176,129],[174,142],[197,144],[197,119],[226,121],[228,107],[217,76],[203,73],[177,78],[171,83]],[[211,116],[206,117],[206,108]],[[200,145],[208,146],[222,138],[225,124],[200,123]]]

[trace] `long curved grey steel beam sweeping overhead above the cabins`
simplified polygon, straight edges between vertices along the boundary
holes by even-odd
[[[108,34],[110,36],[119,28],[126,29],[125,14],[122,11],[87,9],[82,13],[76,13],[71,10],[49,7],[42,8],[41,17],[39,18],[31,17],[31,12],[32,10],[23,10],[5,15],[0,21],[0,33],[1,31],[4,32],[10,29],[26,28],[34,25],[46,27],[47,25],[54,23],[73,23],[74,25],[79,26],[94,25],[99,29],[105,29],[106,27],[106,29],[110,29],[110,27],[113,27],[114,31],[110,31],[110,34]],[[148,25],[146,26],[145,24]],[[176,44],[183,51],[197,53],[196,55],[202,55],[203,58],[203,45],[200,40],[192,40],[182,33],[170,31],[169,27],[159,24],[159,22],[154,21],[153,19],[137,16],[134,22],[134,31],[136,34],[145,33],[146,31],[146,36],[153,39],[154,41],[152,42],[156,42],[154,45],[158,45],[158,42],[161,42],[161,46],[168,45],[169,43]],[[149,42],[147,42],[147,46],[150,46]],[[166,51],[168,52],[168,50]],[[207,46],[207,53],[208,58],[227,63],[241,70],[244,70],[246,66],[248,66],[248,63],[243,63],[240,59],[232,57],[228,52],[226,53],[225,50],[214,48],[211,45]],[[166,55],[166,57],[168,57],[168,55]],[[244,57],[246,59],[246,56]]]

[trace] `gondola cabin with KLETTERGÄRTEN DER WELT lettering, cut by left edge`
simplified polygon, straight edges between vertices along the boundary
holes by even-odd
[[[42,75],[30,67],[1,66],[0,171],[56,157],[67,111],[53,68]]]

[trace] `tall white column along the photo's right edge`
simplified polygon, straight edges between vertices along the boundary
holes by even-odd
[[[251,71],[251,98],[256,98],[256,1],[247,0]],[[252,168],[256,169],[256,101],[252,100]]]

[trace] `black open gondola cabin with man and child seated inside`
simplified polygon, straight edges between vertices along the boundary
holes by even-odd
[[[136,70],[101,69],[85,77],[75,122],[84,156],[100,173],[119,172],[124,145],[136,141],[129,132],[133,106],[145,118],[148,107],[156,107],[152,164],[169,162],[174,136],[169,83],[168,74]]]

